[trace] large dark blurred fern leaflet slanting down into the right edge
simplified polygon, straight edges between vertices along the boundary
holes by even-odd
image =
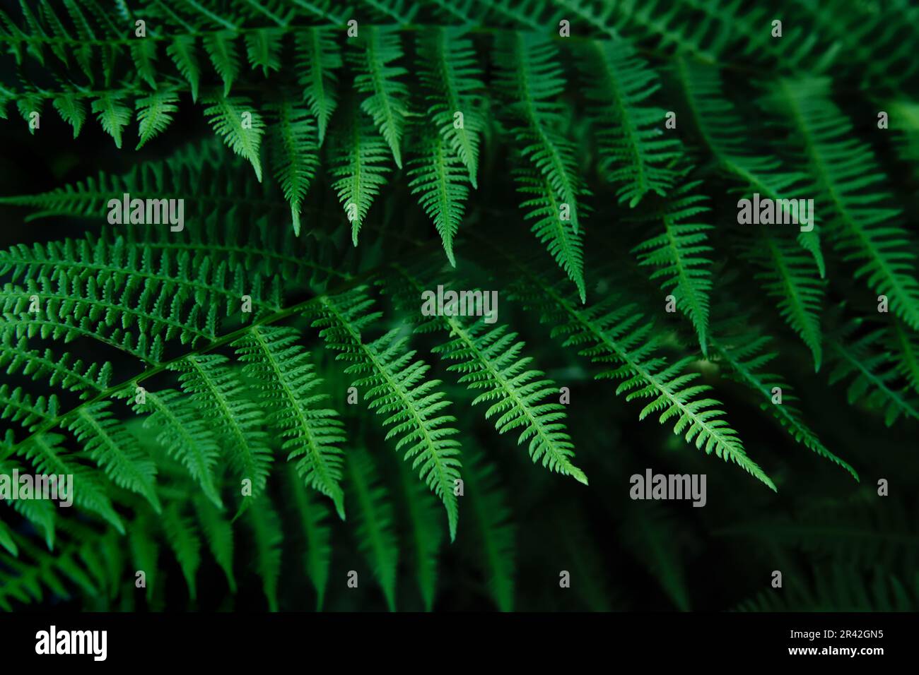
[[[893,313],[919,331],[916,245],[900,224],[900,210],[890,206],[887,176],[874,152],[852,137],[852,124],[829,98],[827,80],[783,80],[776,97],[811,163],[820,190],[815,204],[828,214],[835,248],[845,261],[860,264],[856,278],[888,296]]]

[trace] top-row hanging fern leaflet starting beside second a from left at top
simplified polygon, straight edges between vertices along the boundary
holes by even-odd
[[[362,49],[348,52],[357,75],[354,88],[367,95],[360,109],[373,118],[380,135],[390,146],[396,166],[402,168],[400,144],[408,112],[408,87],[396,79],[407,71],[391,62],[403,57],[402,43],[396,28],[369,26],[360,32]]]

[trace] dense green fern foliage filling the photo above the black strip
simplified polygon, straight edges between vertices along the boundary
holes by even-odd
[[[0,473],[74,476],[0,506],[0,608],[914,609],[889,5],[0,10]],[[706,507],[631,501],[645,467]]]

